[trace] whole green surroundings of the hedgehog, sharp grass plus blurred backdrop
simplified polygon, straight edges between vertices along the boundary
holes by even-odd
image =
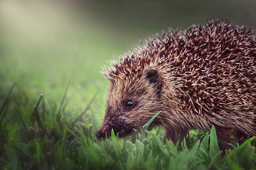
[[[161,128],[125,139],[94,135],[106,60],[168,27],[230,17],[255,28],[254,1],[75,2],[0,2],[0,169],[256,168],[255,139],[222,156],[214,128],[191,131],[180,145]]]

